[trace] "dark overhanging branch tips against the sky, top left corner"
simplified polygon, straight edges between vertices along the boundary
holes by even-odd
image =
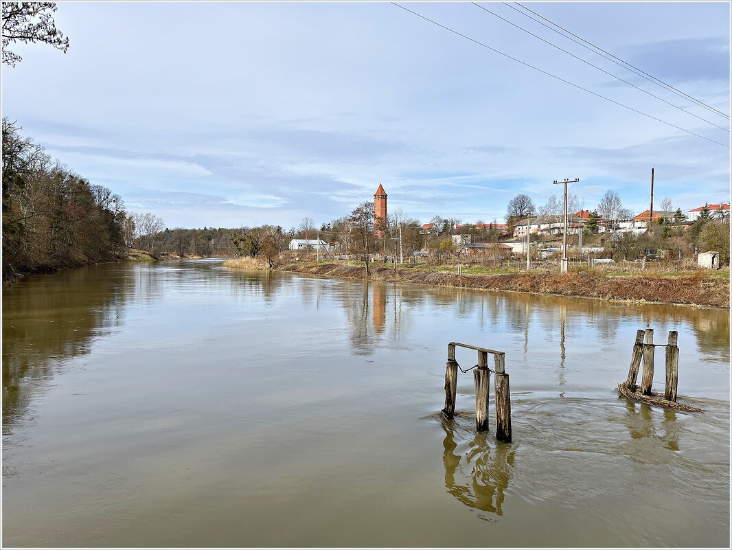
[[[2,62],[15,67],[21,58],[8,46],[15,42],[42,42],[64,53],[69,39],[56,29],[51,12],[56,2],[3,2],[2,3]]]

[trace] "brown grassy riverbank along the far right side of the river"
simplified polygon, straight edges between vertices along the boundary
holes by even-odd
[[[335,263],[288,263],[275,269],[307,275],[365,279],[363,266]],[[447,272],[444,266],[384,267],[372,264],[370,279],[395,283],[451,286],[464,289],[559,294],[621,302],[657,302],[729,309],[729,280],[692,272],[682,277],[658,274],[608,276],[597,272],[557,273],[548,271],[486,273],[479,275]]]

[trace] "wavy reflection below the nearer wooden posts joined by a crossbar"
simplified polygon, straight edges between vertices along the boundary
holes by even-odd
[[[490,447],[488,433],[471,433],[458,426],[459,420],[440,416],[439,421],[445,432],[442,461],[447,492],[468,508],[503,516],[504,491],[515,460],[512,446],[495,443],[495,447]],[[458,446],[466,450],[456,453]]]

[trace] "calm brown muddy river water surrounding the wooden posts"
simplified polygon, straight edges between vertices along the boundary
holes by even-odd
[[[648,326],[705,413],[617,395]],[[182,261],[23,280],[2,329],[5,547],[729,546],[728,311]],[[449,341],[506,352],[512,443],[471,373],[436,415]]]

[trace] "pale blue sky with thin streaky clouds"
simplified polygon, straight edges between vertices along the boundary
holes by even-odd
[[[170,228],[320,226],[379,183],[422,223],[501,222],[565,178],[586,209],[613,189],[639,213],[652,166],[654,209],[729,200],[728,117],[517,4],[481,5],[606,73],[467,2],[400,5],[483,45],[389,2],[59,2],[69,50],[11,47],[2,114]],[[730,114],[728,2],[523,5]]]

